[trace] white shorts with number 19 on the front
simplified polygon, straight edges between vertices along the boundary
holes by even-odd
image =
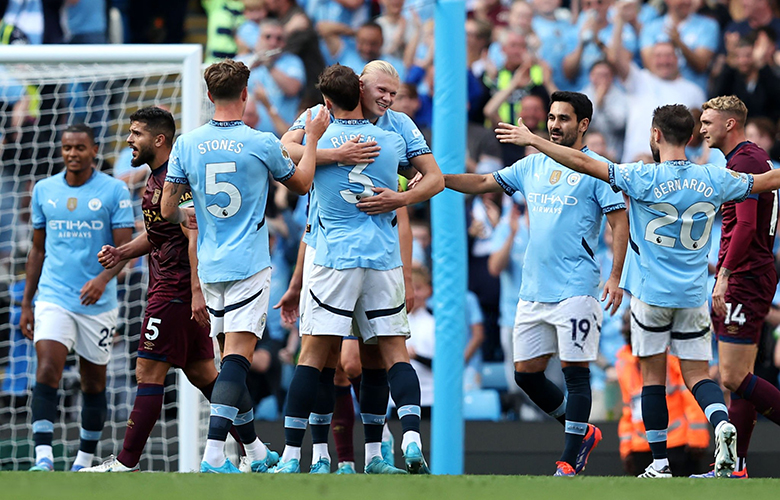
[[[562,302],[520,299],[512,332],[514,360],[558,354],[570,363],[596,361],[601,336],[601,307],[589,295]]]

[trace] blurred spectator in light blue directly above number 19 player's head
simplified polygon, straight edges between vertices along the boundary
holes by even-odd
[[[569,35],[573,50],[563,59],[563,72],[576,90],[588,85],[591,68],[607,55],[607,45],[615,29],[607,18],[609,7],[608,0],[582,0],[583,12]],[[623,50],[633,56],[639,47],[637,34],[628,23],[622,23],[621,27]]]

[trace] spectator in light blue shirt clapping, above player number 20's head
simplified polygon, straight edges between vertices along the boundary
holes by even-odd
[[[639,45],[645,67],[652,64],[653,47],[660,42],[671,43],[678,53],[682,76],[706,90],[710,62],[720,45],[720,27],[714,20],[696,14],[693,0],[665,1],[669,9],[666,15],[642,29]]]

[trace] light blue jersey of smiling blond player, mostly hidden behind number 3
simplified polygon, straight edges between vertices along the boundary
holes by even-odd
[[[322,104],[310,108],[312,119],[317,116],[317,113],[319,113],[321,108]],[[331,123],[334,121],[332,115],[330,121]],[[306,111],[301,113],[295,120],[292,126],[290,126],[290,130],[302,130],[305,126]],[[414,121],[406,114],[388,109],[385,114],[377,120],[376,126],[383,130],[395,132],[404,139],[404,142],[406,143],[407,160],[424,154],[431,154],[431,148],[428,147],[428,143],[425,141],[422,132],[420,132],[420,129],[417,128]],[[407,167],[407,162],[403,162],[399,165],[399,169]],[[317,199],[316,196],[313,196],[314,189],[316,189],[316,186],[312,185],[312,193],[311,196],[309,196],[309,213],[306,221],[306,233],[303,236],[303,242],[312,247],[317,244],[317,224],[314,222],[316,221],[317,214]]]

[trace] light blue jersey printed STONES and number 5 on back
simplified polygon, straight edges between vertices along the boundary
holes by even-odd
[[[271,265],[265,223],[269,173],[283,182],[295,165],[279,139],[240,120],[211,120],[173,145],[165,181],[192,189],[202,282],[242,280]]]

